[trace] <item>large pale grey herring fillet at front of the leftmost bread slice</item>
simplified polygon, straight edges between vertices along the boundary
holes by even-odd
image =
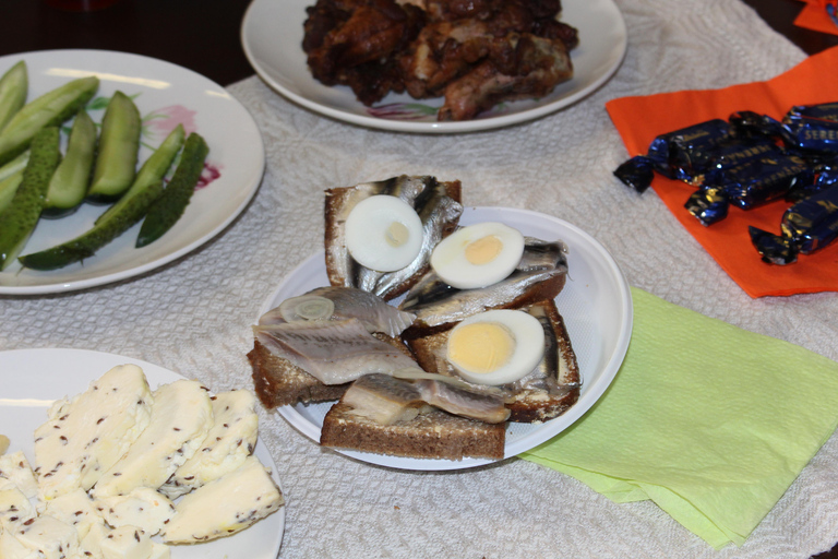
[[[343,384],[372,372],[416,367],[357,319],[253,326],[256,340],[324,384]]]

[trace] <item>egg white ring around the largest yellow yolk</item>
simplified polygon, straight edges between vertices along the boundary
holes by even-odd
[[[489,372],[478,372],[466,369],[463,364],[455,362],[451,358],[451,347],[446,347],[446,359],[465,380],[476,384],[500,385],[515,382],[538,366],[544,356],[544,329],[537,318],[523,311],[512,309],[496,309],[475,314],[454,326],[451,335],[457,329],[477,322],[495,322],[502,324],[512,334],[515,343],[510,358]],[[448,340],[451,340],[451,335]],[[476,348],[480,350],[480,348]],[[487,350],[489,350],[487,348]]]

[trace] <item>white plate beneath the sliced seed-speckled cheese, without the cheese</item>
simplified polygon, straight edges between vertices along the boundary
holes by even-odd
[[[50,404],[84,392],[111,367],[124,364],[140,366],[153,389],[183,378],[146,361],[84,349],[0,352],[0,433],[11,441],[7,452],[22,450],[33,463],[33,432],[47,420]],[[271,468],[279,485],[276,464],[261,440],[256,442],[255,455]],[[285,507],[234,536],[194,546],[171,546],[171,559],[276,559],[284,530]]]

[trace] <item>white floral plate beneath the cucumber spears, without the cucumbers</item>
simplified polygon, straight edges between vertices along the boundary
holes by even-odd
[[[210,240],[239,215],[255,193],[265,166],[262,135],[250,114],[220,85],[169,62],[106,50],[10,55],[0,58],[0,74],[19,60],[25,60],[28,68],[28,100],[74,78],[97,74],[97,97],[109,98],[120,90],[134,98],[145,120],[141,163],[173,124],[183,122],[187,131],[204,136],[210,145],[207,162],[220,176],[195,192],[181,219],[155,242],[134,248],[137,224],[84,263],[50,272],[22,270],[20,263],[14,263],[0,272],[0,294],[68,292],[142,274]],[[99,122],[104,110],[89,114]],[[40,219],[23,254],[84,233],[104,210],[84,204],[70,216]]]

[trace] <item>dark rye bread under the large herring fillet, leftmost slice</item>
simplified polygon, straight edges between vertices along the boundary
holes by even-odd
[[[400,340],[378,332],[372,335],[414,358],[410,349]],[[267,409],[298,403],[309,404],[339,400],[350,384],[349,382],[323,384],[288,359],[273,354],[259,340],[253,341],[253,349],[248,353],[248,360],[253,370],[253,385],[256,395]]]

